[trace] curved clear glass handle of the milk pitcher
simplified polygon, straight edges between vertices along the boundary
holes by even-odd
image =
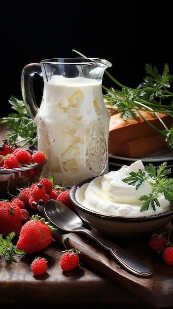
[[[38,105],[35,100],[33,87],[35,74],[38,74],[40,77],[42,77],[41,66],[39,63],[31,63],[26,65],[22,70],[21,77],[21,90],[23,101],[28,114],[33,119],[35,119],[38,111]]]

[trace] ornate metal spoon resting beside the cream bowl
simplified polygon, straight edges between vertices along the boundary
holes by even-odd
[[[145,277],[153,273],[141,261],[122,248],[83,227],[83,221],[79,216],[63,203],[50,199],[44,207],[44,213],[47,219],[59,229],[68,232],[81,232],[96,240],[104,249],[110,252],[121,266],[131,273]]]

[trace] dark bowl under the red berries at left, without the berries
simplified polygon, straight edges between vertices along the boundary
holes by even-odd
[[[12,198],[10,194],[17,195],[20,188],[39,181],[45,161],[30,166],[0,169],[0,199]],[[9,193],[8,193],[9,192]]]

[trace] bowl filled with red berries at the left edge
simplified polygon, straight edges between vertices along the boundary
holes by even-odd
[[[0,144],[0,199],[17,195],[20,188],[39,180],[46,157],[39,151]]]

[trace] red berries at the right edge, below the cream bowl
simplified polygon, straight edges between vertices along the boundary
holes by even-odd
[[[149,238],[150,249],[168,265],[173,265],[173,241],[170,240],[172,233],[173,228],[162,234],[153,234]]]

